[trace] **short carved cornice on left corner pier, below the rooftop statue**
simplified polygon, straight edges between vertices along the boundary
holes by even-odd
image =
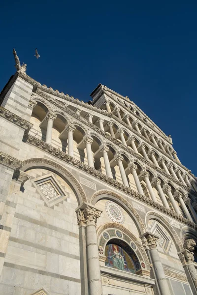
[[[15,125],[21,127],[25,132],[29,132],[33,124],[22,119],[21,117],[11,113],[10,111],[0,107],[0,117],[5,118],[6,120],[14,123]]]

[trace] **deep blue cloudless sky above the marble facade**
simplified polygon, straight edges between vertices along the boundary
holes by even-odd
[[[13,47],[28,75],[75,98],[102,83],[171,134],[197,175],[197,1],[10,0],[0,10],[0,89]]]

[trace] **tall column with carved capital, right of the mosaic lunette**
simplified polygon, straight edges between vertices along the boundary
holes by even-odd
[[[169,290],[167,280],[164,273],[164,268],[160,260],[160,256],[157,250],[157,240],[159,236],[153,235],[152,233],[145,233],[143,236],[147,239],[147,246],[149,247],[151,261],[155,270],[156,280],[160,289],[161,295],[169,295],[171,292]],[[143,237],[141,236],[141,237]]]

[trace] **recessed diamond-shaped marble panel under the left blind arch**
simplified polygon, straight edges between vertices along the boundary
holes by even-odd
[[[52,207],[68,198],[68,195],[65,194],[62,186],[53,174],[47,174],[44,177],[41,176],[33,179],[33,185],[39,191],[48,207]]]

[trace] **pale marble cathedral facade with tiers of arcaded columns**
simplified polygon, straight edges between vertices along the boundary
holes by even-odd
[[[0,294],[196,295],[197,178],[101,84],[88,103],[14,53],[0,93]]]

